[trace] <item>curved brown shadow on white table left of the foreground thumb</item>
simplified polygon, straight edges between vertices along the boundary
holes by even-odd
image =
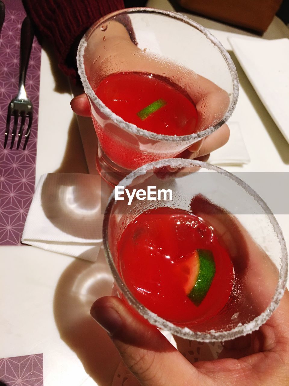
[[[77,259],[70,264],[60,277],[54,296],[54,317],[60,337],[99,386],[111,385],[121,359],[89,311],[97,298],[111,295],[112,285],[113,277],[101,249],[96,263]]]

